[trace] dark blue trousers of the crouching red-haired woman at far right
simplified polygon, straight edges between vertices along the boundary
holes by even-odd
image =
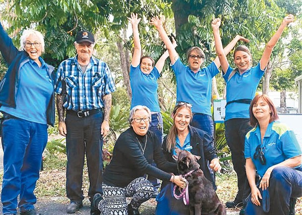
[[[261,196],[262,189],[259,189]],[[245,215],[289,215],[290,198],[302,196],[302,172],[288,167],[276,167],[269,179],[270,210],[264,213],[261,206],[254,205],[251,200],[247,202]]]

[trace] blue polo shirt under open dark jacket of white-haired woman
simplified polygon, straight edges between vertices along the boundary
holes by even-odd
[[[29,59],[20,70],[16,91],[16,107],[1,106],[0,111],[34,123],[47,124],[46,110],[54,91],[47,66],[39,57],[42,66]]]

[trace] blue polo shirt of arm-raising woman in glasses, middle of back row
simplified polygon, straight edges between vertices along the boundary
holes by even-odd
[[[193,113],[211,114],[212,78],[219,73],[214,62],[194,73],[180,60],[171,66],[176,76],[177,101],[191,103]]]

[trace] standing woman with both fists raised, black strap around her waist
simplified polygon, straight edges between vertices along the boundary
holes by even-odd
[[[232,161],[234,170],[237,173],[238,193],[234,201],[227,202],[227,207],[236,207],[241,204],[242,200],[249,193],[249,187],[245,174],[245,160],[243,156],[244,137],[249,125],[248,107],[251,99],[254,97],[256,88],[263,76],[271,53],[275,44],[285,27],[294,21],[293,15],[284,18],[277,32],[267,43],[259,63],[255,67],[251,67],[251,54],[246,46],[238,46],[234,52],[234,63],[237,69],[233,69],[227,60],[223,51],[221,38],[219,34],[219,26],[221,20],[216,18],[212,22],[212,28],[215,39],[215,48],[221,67],[223,77],[227,83],[227,106],[226,106],[226,139],[232,152]]]

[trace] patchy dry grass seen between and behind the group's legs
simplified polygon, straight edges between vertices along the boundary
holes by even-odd
[[[44,161],[44,171],[40,173],[40,179],[37,182],[35,194],[38,201],[57,202],[67,204],[69,200],[66,197],[66,155],[58,154],[48,155]],[[0,172],[2,178],[2,172]],[[0,185],[1,185],[0,181]],[[237,179],[235,172],[217,174],[216,176],[217,194],[220,200],[225,204],[233,200],[237,192]],[[87,166],[84,165],[83,171],[83,193],[86,196],[84,204],[89,204],[87,197],[89,187]],[[156,201],[151,199],[140,207],[141,215],[152,215],[155,211]],[[228,209],[228,212],[239,212],[240,208]],[[296,215],[302,215],[302,199],[298,199],[296,204]]]

